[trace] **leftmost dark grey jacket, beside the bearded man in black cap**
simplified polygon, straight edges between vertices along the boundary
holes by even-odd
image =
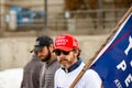
[[[40,88],[42,63],[36,55],[24,66],[21,88]]]

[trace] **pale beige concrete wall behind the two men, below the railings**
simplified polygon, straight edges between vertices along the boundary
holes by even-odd
[[[53,38],[55,36],[52,36]],[[98,51],[107,35],[76,36],[81,48],[85,63]],[[36,37],[6,37],[0,38],[0,69],[23,67],[30,61]]]

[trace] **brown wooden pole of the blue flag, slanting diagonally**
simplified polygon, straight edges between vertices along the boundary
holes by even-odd
[[[81,69],[81,72],[79,73],[79,75],[76,77],[76,79],[74,80],[74,82],[70,85],[69,88],[74,88],[75,85],[78,82],[78,80],[82,77],[82,75],[85,74],[85,72],[89,68],[89,66],[92,64],[92,62],[96,59],[96,57],[98,56],[98,54],[101,52],[101,50],[108,44],[109,40],[116,34],[116,32],[119,30],[119,28],[121,26],[121,24],[127,20],[127,18],[130,15],[130,13],[132,12],[132,7],[129,8],[129,10],[127,11],[127,13],[123,15],[123,18],[118,22],[117,26],[113,29],[113,31],[111,32],[111,34],[108,36],[108,38],[106,40],[106,42],[100,46],[100,48],[96,52],[96,54],[94,55],[94,57],[90,58],[90,61],[84,66],[84,68]],[[102,87],[103,88],[103,87]]]

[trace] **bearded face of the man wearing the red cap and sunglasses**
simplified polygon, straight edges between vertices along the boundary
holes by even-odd
[[[74,51],[65,52],[61,50],[55,51],[57,55],[57,61],[62,67],[68,69],[72,65],[77,62],[77,57]]]

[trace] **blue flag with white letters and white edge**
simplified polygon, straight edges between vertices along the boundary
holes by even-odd
[[[90,68],[99,74],[103,88],[132,88],[132,14],[96,59]]]

